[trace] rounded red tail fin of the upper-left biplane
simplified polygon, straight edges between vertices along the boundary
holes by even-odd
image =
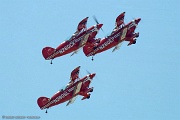
[[[45,47],[42,49],[42,54],[43,57],[47,60],[47,58],[52,55],[55,52],[56,49],[52,48],[52,47]],[[53,59],[53,58],[49,58],[49,59]]]

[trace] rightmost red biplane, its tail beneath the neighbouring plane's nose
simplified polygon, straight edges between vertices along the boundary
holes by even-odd
[[[113,51],[115,51],[121,46],[123,41],[129,41],[128,46],[136,43],[136,38],[139,37],[139,33],[135,33],[135,29],[141,18],[132,20],[125,25],[124,16],[125,12],[121,13],[116,18],[116,26],[109,36],[103,39],[89,40],[91,42],[88,42],[88,44],[83,47],[83,52],[87,57],[92,56],[93,60],[93,56],[95,54],[108,50],[112,47],[115,47],[113,49]]]

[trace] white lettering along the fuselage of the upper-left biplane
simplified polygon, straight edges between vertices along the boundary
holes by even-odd
[[[64,46],[63,48],[61,48],[60,50],[56,51],[54,54],[50,55],[47,60],[54,58],[56,55],[58,54],[62,54],[65,51],[69,50],[70,48],[72,48],[77,42],[81,41],[81,40],[85,40],[85,42],[88,40],[88,38],[84,38],[87,34],[90,34],[94,31],[98,32],[98,29],[96,26],[94,26],[94,28],[92,30],[87,31],[84,35],[82,35],[81,37],[79,37],[78,39],[74,39],[72,40],[68,45]],[[82,32],[81,32],[82,33]],[[80,34],[80,33],[79,33]],[[78,34],[78,35],[79,35]]]

